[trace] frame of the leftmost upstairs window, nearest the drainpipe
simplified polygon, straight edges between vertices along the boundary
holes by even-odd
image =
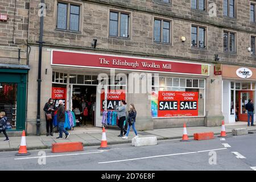
[[[56,30],[59,31],[68,31],[68,32],[81,32],[81,14],[82,14],[82,5],[81,4],[77,4],[77,3],[72,3],[72,2],[63,2],[63,1],[57,1],[57,10],[56,10]],[[66,28],[58,28],[58,13],[59,13],[59,3],[67,5],[67,18],[66,18]],[[77,6],[79,7],[79,28],[78,30],[71,30],[70,29],[70,18],[71,18],[71,6]]]

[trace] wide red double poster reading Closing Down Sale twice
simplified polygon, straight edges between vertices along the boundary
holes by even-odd
[[[198,115],[198,92],[159,91],[158,117]]]

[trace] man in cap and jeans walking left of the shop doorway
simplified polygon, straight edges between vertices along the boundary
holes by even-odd
[[[65,122],[65,109],[63,106],[63,100],[59,100],[59,109],[57,110],[57,122],[59,122],[59,131],[60,136],[57,137],[57,139],[63,139],[62,134],[65,133],[67,139],[69,137],[69,133],[64,128],[64,122]]]

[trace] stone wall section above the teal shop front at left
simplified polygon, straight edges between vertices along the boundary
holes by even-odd
[[[0,21],[0,63],[27,64],[28,12],[30,0],[0,0],[0,13],[7,14]],[[15,17],[14,17],[15,13]],[[18,49],[20,61],[18,61]]]

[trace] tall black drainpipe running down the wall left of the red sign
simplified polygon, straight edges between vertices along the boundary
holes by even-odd
[[[44,0],[41,0],[44,3]],[[44,7],[41,5],[41,9]],[[38,114],[36,116],[36,135],[40,135],[40,102],[41,102],[41,69],[42,69],[42,48],[43,48],[43,26],[44,16],[40,16],[40,35],[39,35],[39,61],[38,61]]]

